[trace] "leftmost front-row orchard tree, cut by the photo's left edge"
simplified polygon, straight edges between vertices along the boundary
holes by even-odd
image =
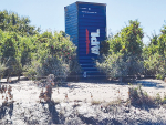
[[[15,48],[15,33],[3,32],[1,43],[2,59],[1,63],[6,64],[7,70],[4,75],[7,75],[7,81],[12,75],[21,75],[21,65],[17,60],[17,48]]]

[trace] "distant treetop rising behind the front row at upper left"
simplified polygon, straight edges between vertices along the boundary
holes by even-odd
[[[17,32],[20,35],[34,35],[40,31],[39,28],[35,30],[35,27],[30,25],[29,18],[20,18],[17,13],[7,10],[0,11],[0,29]]]

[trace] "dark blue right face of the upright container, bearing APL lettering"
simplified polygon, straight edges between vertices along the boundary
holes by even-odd
[[[106,38],[106,7],[95,3],[77,3],[79,62],[83,77],[102,75],[95,67],[101,42]]]

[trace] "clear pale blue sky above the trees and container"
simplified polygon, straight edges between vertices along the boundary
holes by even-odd
[[[86,2],[106,3],[107,32],[114,34],[128,24],[128,20],[136,20],[145,32],[144,43],[151,35],[166,24],[166,0],[84,0]],[[64,7],[75,0],[1,0],[0,10],[17,12],[29,17],[31,24],[40,27],[42,31],[64,31]]]

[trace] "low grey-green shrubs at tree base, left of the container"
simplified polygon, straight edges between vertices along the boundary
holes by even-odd
[[[32,80],[54,74],[56,82],[64,82],[72,71],[71,67],[63,60],[48,55],[41,62],[33,60],[25,65],[23,74]]]

